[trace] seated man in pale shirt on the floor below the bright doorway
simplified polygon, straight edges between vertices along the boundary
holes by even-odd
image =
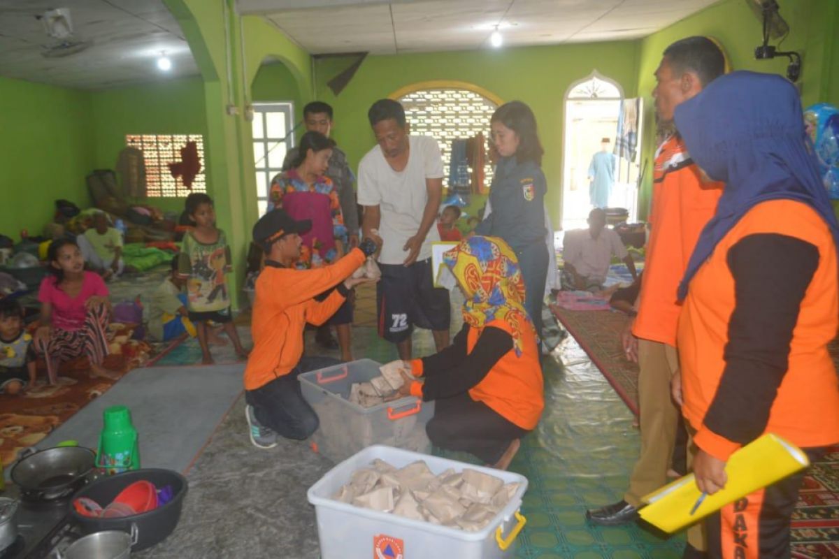
[[[568,231],[563,241],[562,288],[601,291],[612,256],[618,256],[637,277],[635,262],[618,233],[606,227],[606,212],[600,208],[588,215],[588,229]]]

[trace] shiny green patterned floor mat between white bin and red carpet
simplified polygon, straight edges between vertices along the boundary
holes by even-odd
[[[680,557],[682,536],[664,539],[634,524],[600,527],[586,522],[586,509],[621,499],[638,458],[638,430],[623,401],[574,339],[555,350],[555,359],[545,359],[543,370],[545,412],[510,468],[529,480],[522,507],[528,523],[519,536],[517,556]]]

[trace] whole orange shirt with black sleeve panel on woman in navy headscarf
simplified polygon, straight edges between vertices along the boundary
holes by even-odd
[[[727,460],[763,432],[839,441],[836,246],[809,205],[773,200],[734,225],[690,282],[679,323],[682,411]]]

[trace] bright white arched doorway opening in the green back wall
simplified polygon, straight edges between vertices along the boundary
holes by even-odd
[[[623,101],[621,86],[597,70],[572,83],[565,91],[564,158],[562,180],[562,229],[586,226],[591,210],[589,166],[592,156],[601,149],[602,138],[615,145],[618,118]],[[635,189],[629,188],[626,163],[618,160],[616,181],[609,206],[627,207],[634,219]],[[635,172],[637,174],[637,170]],[[634,185],[633,185],[634,187]],[[630,192],[631,190],[631,192]],[[631,199],[628,199],[631,198]],[[631,206],[631,207],[628,207]]]

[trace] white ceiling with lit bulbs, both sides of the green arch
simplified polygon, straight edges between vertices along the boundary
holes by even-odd
[[[205,0],[220,3],[222,0]],[[237,0],[312,54],[374,54],[488,48],[498,25],[505,46],[635,39],[717,0]],[[38,16],[70,8],[74,41],[91,46],[45,58],[59,43]],[[161,51],[172,60],[163,73]],[[165,76],[197,75],[163,0],[0,0],[0,76],[106,89]]]

